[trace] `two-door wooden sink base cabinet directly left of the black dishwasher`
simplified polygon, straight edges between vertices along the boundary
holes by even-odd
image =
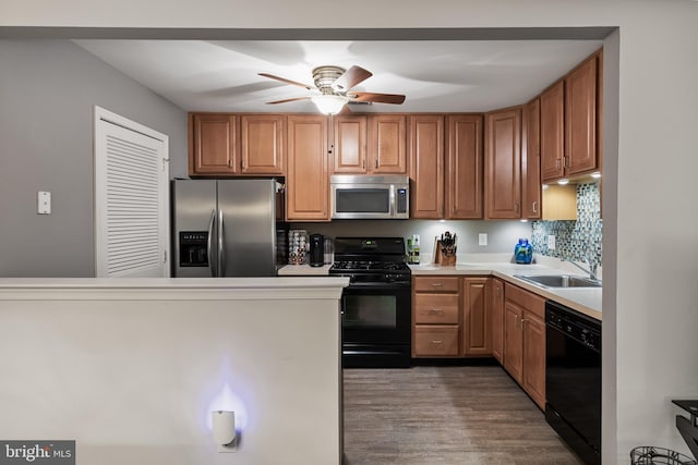
[[[504,296],[504,368],[544,409],[545,298],[508,283]]]

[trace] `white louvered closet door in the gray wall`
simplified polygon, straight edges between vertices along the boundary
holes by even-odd
[[[168,137],[95,107],[97,278],[169,277]]]

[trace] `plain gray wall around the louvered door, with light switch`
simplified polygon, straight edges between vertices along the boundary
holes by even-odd
[[[68,40],[0,40],[0,276],[93,277],[93,107],[167,134],[170,176],[186,113]]]

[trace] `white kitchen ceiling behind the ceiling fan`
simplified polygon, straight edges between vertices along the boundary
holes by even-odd
[[[353,90],[404,94],[404,105],[358,112],[489,111],[524,103],[564,75],[601,40],[75,40],[186,111],[316,112],[310,95],[262,77],[312,85],[318,65],[360,65],[373,76]]]

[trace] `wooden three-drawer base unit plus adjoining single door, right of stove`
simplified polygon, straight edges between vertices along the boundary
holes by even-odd
[[[412,357],[492,355],[491,278],[412,278]]]

